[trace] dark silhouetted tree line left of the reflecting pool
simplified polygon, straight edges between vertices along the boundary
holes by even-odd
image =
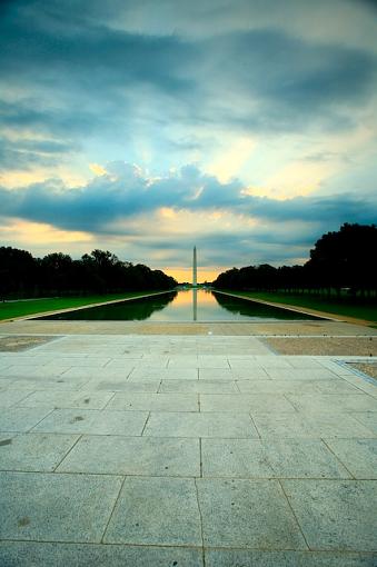
[[[62,252],[34,258],[26,250],[0,247],[2,298],[102,295],[176,286],[177,281],[163,271],[121,261],[108,250],[93,250],[73,260]]]

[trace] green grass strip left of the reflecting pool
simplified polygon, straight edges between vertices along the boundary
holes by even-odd
[[[150,291],[150,294],[156,291]],[[0,320],[13,319],[34,314],[43,314],[46,311],[54,311],[59,309],[70,309],[91,304],[101,304],[103,301],[112,301],[115,299],[128,299],[148,295],[149,291],[130,291],[127,294],[109,294],[103,296],[86,296],[86,297],[51,297],[42,299],[23,299],[20,301],[6,301],[0,304]]]

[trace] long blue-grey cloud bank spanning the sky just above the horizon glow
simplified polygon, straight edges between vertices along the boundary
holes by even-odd
[[[109,165],[108,170],[108,175],[75,189],[67,189],[59,180],[49,180],[27,189],[0,190],[2,215],[93,233],[111,233],[113,221],[150,213],[161,207],[197,212],[221,210],[278,222],[377,221],[376,199],[361,196],[287,200],[256,197],[245,195],[240,181],[221,183],[195,166],[186,166],[170,177],[156,180],[126,163]],[[116,228],[116,231],[121,233],[121,229]]]

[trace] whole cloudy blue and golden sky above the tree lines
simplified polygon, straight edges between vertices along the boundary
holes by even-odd
[[[0,246],[199,281],[377,223],[377,1],[2,0]]]

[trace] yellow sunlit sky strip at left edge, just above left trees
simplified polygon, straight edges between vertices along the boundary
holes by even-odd
[[[90,242],[91,235],[79,231],[59,230],[51,225],[13,219],[0,227],[2,240],[9,240],[28,248],[33,245],[61,245],[67,242]]]

